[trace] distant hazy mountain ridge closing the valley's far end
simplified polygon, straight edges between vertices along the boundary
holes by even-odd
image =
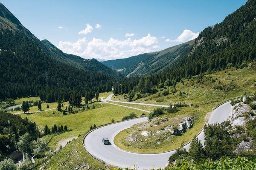
[[[162,51],[140,54],[126,59],[113,59],[102,62],[121,72],[126,77],[145,76],[169,68],[172,63],[192,49],[195,40],[166,48]]]

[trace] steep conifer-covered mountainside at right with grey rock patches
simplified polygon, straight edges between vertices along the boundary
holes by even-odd
[[[221,23],[205,28],[189,54],[161,75],[179,80],[207,71],[242,67],[255,59],[256,1],[248,0]]]

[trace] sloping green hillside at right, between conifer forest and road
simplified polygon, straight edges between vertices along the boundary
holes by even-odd
[[[212,82],[212,79],[215,82]],[[135,100],[133,102],[143,102],[151,104],[169,105],[170,103],[186,102],[198,105],[208,103],[217,103],[225,99],[241,96],[245,92],[249,94],[256,89],[256,66],[246,67],[243,69],[228,69],[216,71],[214,74],[205,75],[200,82],[198,78],[184,79],[184,84],[178,82],[176,85],[177,92],[166,96],[159,96],[158,93]],[[219,83],[220,82],[220,83]],[[221,85],[225,90],[214,89],[214,86]],[[173,87],[170,87],[171,91]],[[163,89],[158,89],[159,93]],[[179,92],[185,92],[180,96]],[[113,100],[127,101],[123,95],[113,96]]]

